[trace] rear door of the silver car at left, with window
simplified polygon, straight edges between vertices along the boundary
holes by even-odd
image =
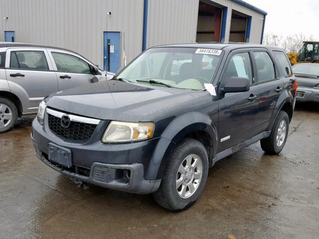
[[[44,48],[7,49],[5,73],[11,91],[28,96],[25,113],[36,112],[45,96],[58,91],[56,74]]]

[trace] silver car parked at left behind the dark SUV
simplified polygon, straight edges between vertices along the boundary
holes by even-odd
[[[0,132],[22,115],[36,113],[51,93],[113,76],[70,50],[0,42]]]

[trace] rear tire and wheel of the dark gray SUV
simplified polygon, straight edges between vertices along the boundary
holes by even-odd
[[[278,142],[277,142],[277,134],[280,133],[279,132],[279,127],[282,128],[283,121],[285,121],[284,124],[286,124],[286,132],[285,132],[285,136],[283,136],[281,134],[282,140],[280,140],[279,144],[278,144]],[[267,138],[264,138],[264,139],[260,140],[261,148],[267,154],[278,154],[278,153],[280,153],[281,150],[283,150],[283,148],[285,146],[285,143],[286,143],[286,140],[287,140],[287,136],[288,136],[288,132],[289,132],[289,117],[288,117],[286,112],[280,111],[278,116],[277,116],[277,119],[275,120],[275,123],[273,125],[273,128],[271,130],[270,135]]]

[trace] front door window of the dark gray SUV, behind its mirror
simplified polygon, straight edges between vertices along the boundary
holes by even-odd
[[[237,53],[231,57],[223,75],[223,81],[228,80],[231,77],[248,78],[250,84],[254,83],[251,61],[248,52]]]

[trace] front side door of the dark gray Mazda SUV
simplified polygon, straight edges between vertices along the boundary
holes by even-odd
[[[230,77],[244,77],[249,79],[250,90],[249,92],[220,95],[218,99],[218,152],[255,136],[259,123],[256,120],[259,107],[259,89],[254,80],[250,52],[237,51],[229,56],[227,61],[221,84]]]

